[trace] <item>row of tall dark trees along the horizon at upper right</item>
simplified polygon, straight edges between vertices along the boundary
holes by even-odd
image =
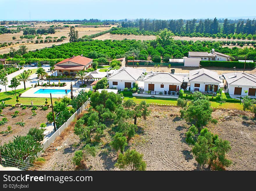
[[[221,21],[222,22],[222,21]],[[136,19],[135,21],[123,21],[122,27],[138,27],[140,30],[145,31],[159,31],[160,29],[168,28],[173,33],[243,33],[243,34],[255,34],[256,33],[256,21],[247,19],[238,20],[237,23],[232,20],[224,19],[223,23],[220,23],[216,17],[214,19],[191,19],[191,20],[159,20],[159,19]]]

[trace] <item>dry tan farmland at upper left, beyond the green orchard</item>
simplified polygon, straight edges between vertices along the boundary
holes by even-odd
[[[69,25],[70,26],[75,26],[77,24],[69,24]],[[39,26],[35,26],[35,29],[37,30],[39,28],[40,29],[41,28],[47,28],[49,26],[50,26],[49,24],[48,25],[40,24]],[[61,26],[63,26],[63,24],[61,24]],[[78,31],[79,38],[80,38],[80,37],[82,37],[84,35],[92,35],[92,34],[96,34],[96,33],[102,32],[102,31],[109,30],[110,28],[112,28],[114,26],[115,25],[111,25],[111,27],[109,27],[109,26],[101,26],[101,27],[98,27],[98,28],[88,27],[88,26],[79,26],[79,27],[75,27],[75,29]],[[15,29],[15,28],[13,28],[13,29]],[[21,46],[21,45],[26,45],[26,47],[30,51],[30,50],[35,50],[35,49],[41,49],[41,48],[44,48],[44,47],[51,47],[52,44],[58,45],[58,44],[63,44],[63,43],[69,42],[68,33],[70,32],[70,28],[56,29],[55,31],[56,31],[55,34],[42,35],[43,40],[45,40],[46,36],[58,37],[58,38],[61,38],[61,36],[66,36],[67,39],[63,40],[63,42],[51,42],[51,43],[33,44],[33,43],[30,43],[31,40],[26,40],[26,39],[21,40],[19,38],[21,35],[23,35],[23,31],[19,32],[19,33],[13,33],[13,34],[11,34],[11,33],[2,34],[2,35],[0,35],[0,43],[13,42],[15,44],[16,42],[19,42],[19,44],[15,44],[15,45],[12,45],[12,46],[9,46],[9,47],[2,47],[2,48],[0,48],[0,54],[9,53],[10,47],[13,47],[14,49],[17,50],[17,49],[19,49],[19,46]],[[17,38],[17,40],[13,40],[12,39],[13,36],[15,36]],[[33,41],[35,42],[35,40],[37,40],[37,39],[35,38]],[[25,43],[22,43],[23,41]],[[29,43],[27,43],[27,41],[29,41]]]

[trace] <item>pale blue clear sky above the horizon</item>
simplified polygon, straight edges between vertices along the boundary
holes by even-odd
[[[0,20],[256,19],[255,0],[0,0]]]

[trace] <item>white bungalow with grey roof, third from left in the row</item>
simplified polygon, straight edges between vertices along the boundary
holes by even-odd
[[[222,83],[217,72],[205,68],[189,71],[190,91],[217,92]]]

